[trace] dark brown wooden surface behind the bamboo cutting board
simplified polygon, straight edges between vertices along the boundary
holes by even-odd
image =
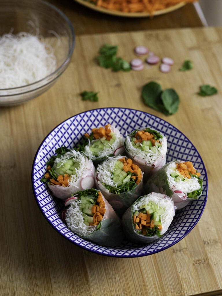
[[[67,15],[73,23],[76,35],[203,26],[193,4],[186,4],[175,11],[153,18],[132,18],[104,14],[74,0],[49,2]]]

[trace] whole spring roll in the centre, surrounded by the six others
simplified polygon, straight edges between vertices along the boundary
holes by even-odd
[[[96,168],[96,187],[122,215],[143,191],[143,173],[130,158],[110,157]]]

